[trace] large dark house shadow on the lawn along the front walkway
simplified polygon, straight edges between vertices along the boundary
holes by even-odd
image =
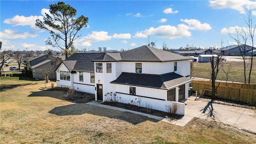
[[[148,118],[147,116],[141,116],[130,112],[120,112],[117,110],[111,110],[98,106],[78,103],[55,107],[52,110],[50,110],[49,113],[55,114],[57,116],[92,114],[97,116],[104,116],[108,118],[124,120],[134,125],[140,124],[147,120],[151,122],[158,122],[158,120]]]

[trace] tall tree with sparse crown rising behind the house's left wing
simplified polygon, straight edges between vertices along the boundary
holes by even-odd
[[[73,45],[73,41],[81,36],[79,32],[87,26],[88,22],[88,18],[83,15],[78,18],[74,18],[75,16],[75,8],[64,2],[58,2],[50,4],[50,14],[46,14],[43,22],[39,19],[36,20],[37,28],[51,34],[52,38],[48,38],[46,44],[64,50],[66,58],[68,58],[69,48]],[[64,44],[61,44],[60,40]]]

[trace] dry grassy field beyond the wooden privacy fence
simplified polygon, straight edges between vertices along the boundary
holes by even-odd
[[[254,58],[252,66],[251,84],[256,84],[256,58]],[[228,81],[244,82],[244,64],[243,62],[224,62],[224,69],[228,69],[231,64],[232,69],[228,74]],[[249,68],[249,66],[248,66]],[[249,69],[246,69],[246,82],[248,82]],[[210,62],[195,62],[194,63],[194,77],[211,79],[211,64]],[[226,74],[220,69],[217,80],[226,80]]]

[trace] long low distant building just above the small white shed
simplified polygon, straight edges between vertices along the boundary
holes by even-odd
[[[214,50],[192,50],[192,51],[172,51],[175,54],[180,54],[182,56],[199,56],[200,54],[217,54]]]

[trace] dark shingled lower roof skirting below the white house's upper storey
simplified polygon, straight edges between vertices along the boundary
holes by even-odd
[[[190,81],[192,80],[174,72],[160,75],[122,72],[122,74],[116,80],[110,83],[168,90]]]

